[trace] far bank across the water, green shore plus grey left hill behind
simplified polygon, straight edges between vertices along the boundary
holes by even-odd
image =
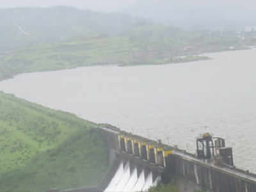
[[[1,22],[0,80],[24,72],[93,65],[208,60],[198,54],[256,44],[255,31],[186,31],[119,13],[70,7],[13,8],[0,10],[0,16],[0,21],[7,18]]]

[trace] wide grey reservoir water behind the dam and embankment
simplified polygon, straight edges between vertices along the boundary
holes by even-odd
[[[195,152],[202,132],[226,139],[235,164],[256,172],[256,50],[214,60],[138,67],[83,67],[22,74],[0,90],[97,123]]]

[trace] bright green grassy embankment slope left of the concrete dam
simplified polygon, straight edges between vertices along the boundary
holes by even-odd
[[[108,168],[96,125],[0,92],[0,191],[94,186]]]

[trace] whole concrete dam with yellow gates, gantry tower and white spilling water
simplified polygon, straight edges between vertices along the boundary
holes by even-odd
[[[109,148],[109,172],[95,188],[66,192],[146,191],[175,180],[180,192],[256,192],[256,175],[234,166],[225,140],[202,134],[196,155],[111,125],[100,125]],[[51,189],[50,192],[61,191]]]

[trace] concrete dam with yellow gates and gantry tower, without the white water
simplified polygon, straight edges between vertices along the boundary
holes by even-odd
[[[153,181],[148,181],[150,184],[154,183],[154,173],[157,173],[160,175],[159,180],[164,183],[172,179],[183,179],[182,184],[177,183],[181,192],[256,191],[256,175],[234,166],[232,148],[225,147],[225,140],[222,138],[211,138],[210,134],[204,134],[195,142],[198,145],[198,154],[195,155],[161,141],[121,131],[111,125],[103,125],[100,129],[104,132],[109,147],[115,151],[116,157],[132,161],[153,173]],[[145,177],[141,180],[146,183]]]

